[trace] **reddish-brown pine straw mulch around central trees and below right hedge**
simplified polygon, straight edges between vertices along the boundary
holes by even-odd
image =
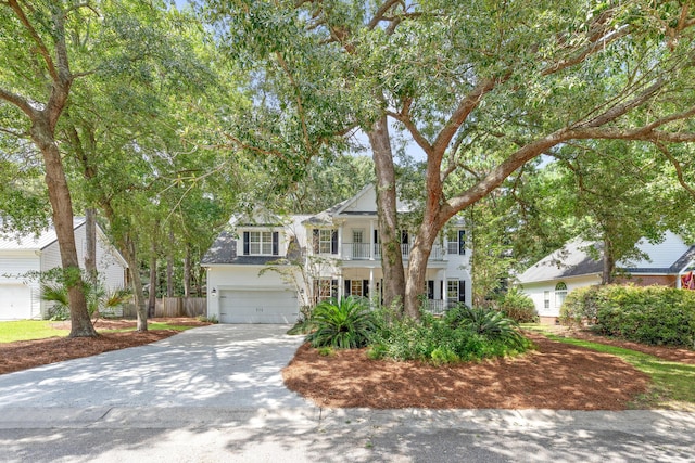
[[[615,356],[525,334],[536,350],[445,366],[369,360],[365,349],[326,357],[305,344],[282,375],[288,388],[326,408],[624,410],[649,389],[646,374]],[[582,336],[667,359],[695,360],[686,349],[572,333]]]

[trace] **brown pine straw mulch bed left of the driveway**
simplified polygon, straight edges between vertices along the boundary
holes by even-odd
[[[149,322],[166,322],[184,326],[204,326],[210,323],[189,318],[150,319]],[[94,322],[97,331],[135,327],[132,320],[99,319]],[[68,330],[70,321],[53,324],[56,330]],[[40,366],[63,360],[96,356],[110,350],[142,346],[174,336],[176,330],[156,330],[148,332],[100,333],[98,337],[49,337],[36,340],[18,340],[0,344],[0,374],[12,373],[34,366]]]

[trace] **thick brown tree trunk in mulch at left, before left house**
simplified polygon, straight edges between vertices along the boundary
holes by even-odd
[[[45,114],[41,113],[41,116],[45,116]],[[63,271],[67,275],[65,285],[70,300],[70,337],[94,337],[97,336],[97,331],[87,310],[87,299],[85,298],[77,247],[75,245],[73,202],[61,154],[48,120],[42,120],[42,117],[33,120],[30,132],[31,139],[43,155],[46,184],[53,210],[53,227],[58,237]]]

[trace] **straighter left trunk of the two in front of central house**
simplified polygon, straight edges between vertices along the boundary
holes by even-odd
[[[371,145],[377,176],[377,211],[381,240],[381,269],[383,271],[383,303],[387,307],[401,306],[405,298],[405,272],[401,254],[401,236],[396,217],[395,171],[386,115],[367,133]],[[402,308],[401,308],[402,310]]]

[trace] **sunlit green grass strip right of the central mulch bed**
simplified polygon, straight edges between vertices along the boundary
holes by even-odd
[[[525,325],[559,343],[616,356],[652,378],[649,391],[636,397],[635,409],[677,409],[695,411],[695,365],[672,362],[636,350],[572,337],[556,336],[541,325]]]

